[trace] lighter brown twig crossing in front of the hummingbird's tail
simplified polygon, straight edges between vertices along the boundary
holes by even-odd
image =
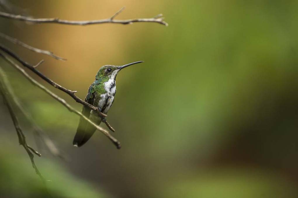
[[[105,130],[104,128],[96,125],[94,122],[92,122],[91,120],[89,120],[86,116],[84,116],[80,111],[77,111],[71,105],[69,105],[64,99],[60,98],[58,95],[54,94],[49,89],[47,89],[46,87],[44,87],[43,85],[41,85],[40,83],[38,83],[37,81],[35,81],[31,76],[29,76],[29,74],[23,68],[21,68],[19,65],[15,64],[15,62],[13,62],[6,55],[0,53],[0,56],[2,56],[4,58],[4,60],[6,60],[8,63],[10,63],[11,65],[13,65],[13,67],[15,67],[19,72],[21,72],[21,74],[23,74],[33,85],[39,87],[44,92],[46,92],[48,95],[50,95],[52,98],[55,98],[56,100],[58,100],[58,102],[60,102],[61,104],[63,104],[69,111],[71,111],[71,112],[79,115],[80,117],[83,117],[87,122],[89,122],[91,125],[93,125],[97,130],[99,130],[103,134],[105,134],[105,136],[107,136],[116,145],[116,147],[118,149],[121,148],[120,142],[116,138],[114,138],[107,130]],[[50,80],[50,81],[52,81],[52,80]]]

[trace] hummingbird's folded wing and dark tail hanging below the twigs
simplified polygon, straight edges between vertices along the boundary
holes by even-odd
[[[94,84],[91,84],[88,89],[88,94],[86,95],[85,101],[93,105],[95,97],[96,97],[95,87],[94,87]],[[90,113],[91,113],[91,109],[86,106],[83,106],[82,114],[87,118],[89,118]],[[91,118],[93,118],[93,116],[91,116],[90,119]],[[93,118],[91,120],[96,122],[97,124],[100,123],[100,119]],[[83,144],[85,144],[93,135],[95,130],[96,128],[93,125],[91,125],[87,120],[81,117],[79,125],[77,127],[77,133],[75,134],[73,145],[80,147]]]

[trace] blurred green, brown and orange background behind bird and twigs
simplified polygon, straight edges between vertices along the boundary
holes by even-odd
[[[52,156],[18,114],[53,197],[298,197],[297,0],[11,2],[36,18],[101,19],[126,6],[117,19],[163,13],[169,23],[0,18],[1,32],[66,58],[0,40],[32,64],[45,59],[38,69],[80,98],[102,65],[145,61],[117,76],[108,113],[117,150],[100,132],[73,147],[79,117],[0,60],[26,110],[67,158]],[[0,112],[2,197],[46,197],[2,98]]]

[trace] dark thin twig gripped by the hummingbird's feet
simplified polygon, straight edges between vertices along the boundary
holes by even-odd
[[[81,103],[87,107],[89,107],[90,109],[92,109],[93,111],[96,111],[100,116],[102,117],[106,117],[106,114],[103,114],[102,112],[99,111],[99,109],[89,103],[87,103],[86,101],[80,99],[79,97],[77,97],[75,95],[75,93],[77,91],[72,91],[69,89],[66,89],[65,87],[62,87],[61,85],[55,83],[54,81],[52,81],[51,79],[47,78],[46,76],[44,76],[41,72],[39,72],[38,70],[36,70],[33,65],[27,63],[26,61],[24,61],[23,59],[21,59],[18,55],[16,55],[13,51],[11,51],[10,49],[4,47],[3,45],[0,44],[0,49],[5,51],[7,54],[9,54],[10,56],[12,56],[13,58],[15,58],[18,62],[20,62],[22,65],[24,65],[25,67],[27,67],[28,69],[30,69],[32,72],[34,72],[35,74],[37,74],[39,77],[41,77],[42,79],[44,79],[47,83],[51,84],[53,87],[60,89],[61,91],[67,93],[68,95],[70,95],[73,99],[75,99],[76,102]]]

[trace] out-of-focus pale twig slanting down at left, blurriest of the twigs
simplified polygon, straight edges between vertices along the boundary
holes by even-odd
[[[21,102],[18,100],[17,96],[13,92],[13,89],[7,79],[7,76],[5,75],[4,71],[0,68],[0,77],[2,79],[2,83],[5,85],[6,90],[8,94],[11,96],[10,98],[13,100],[13,103],[15,106],[18,107],[18,109],[21,111],[21,113],[24,115],[24,117],[30,122],[33,128],[34,134],[38,135],[41,140],[44,142],[50,153],[54,156],[60,157],[61,159],[65,159],[63,155],[61,155],[59,149],[55,146],[55,144],[52,142],[52,140],[46,135],[46,133],[38,127],[38,125],[35,124],[32,116],[30,113],[28,113],[24,106],[21,104]],[[37,154],[37,153],[36,153]],[[37,155],[40,155],[39,153]]]

